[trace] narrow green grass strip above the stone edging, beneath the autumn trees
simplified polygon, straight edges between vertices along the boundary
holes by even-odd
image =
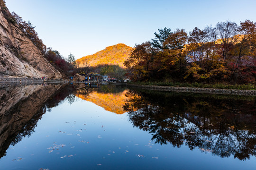
[[[201,83],[173,83],[173,82],[130,82],[135,85],[160,85],[174,87],[198,87],[198,88],[217,88],[217,89],[238,89],[256,90],[256,85],[229,85],[229,84],[201,84]]]

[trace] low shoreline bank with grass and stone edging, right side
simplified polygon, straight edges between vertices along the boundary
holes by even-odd
[[[212,94],[235,94],[235,95],[255,95],[256,90],[238,90],[238,89],[218,89],[218,88],[198,88],[198,87],[174,87],[160,85],[136,85],[127,84],[128,87],[137,87],[147,90],[172,91],[172,92],[190,92],[190,93],[212,93]]]

